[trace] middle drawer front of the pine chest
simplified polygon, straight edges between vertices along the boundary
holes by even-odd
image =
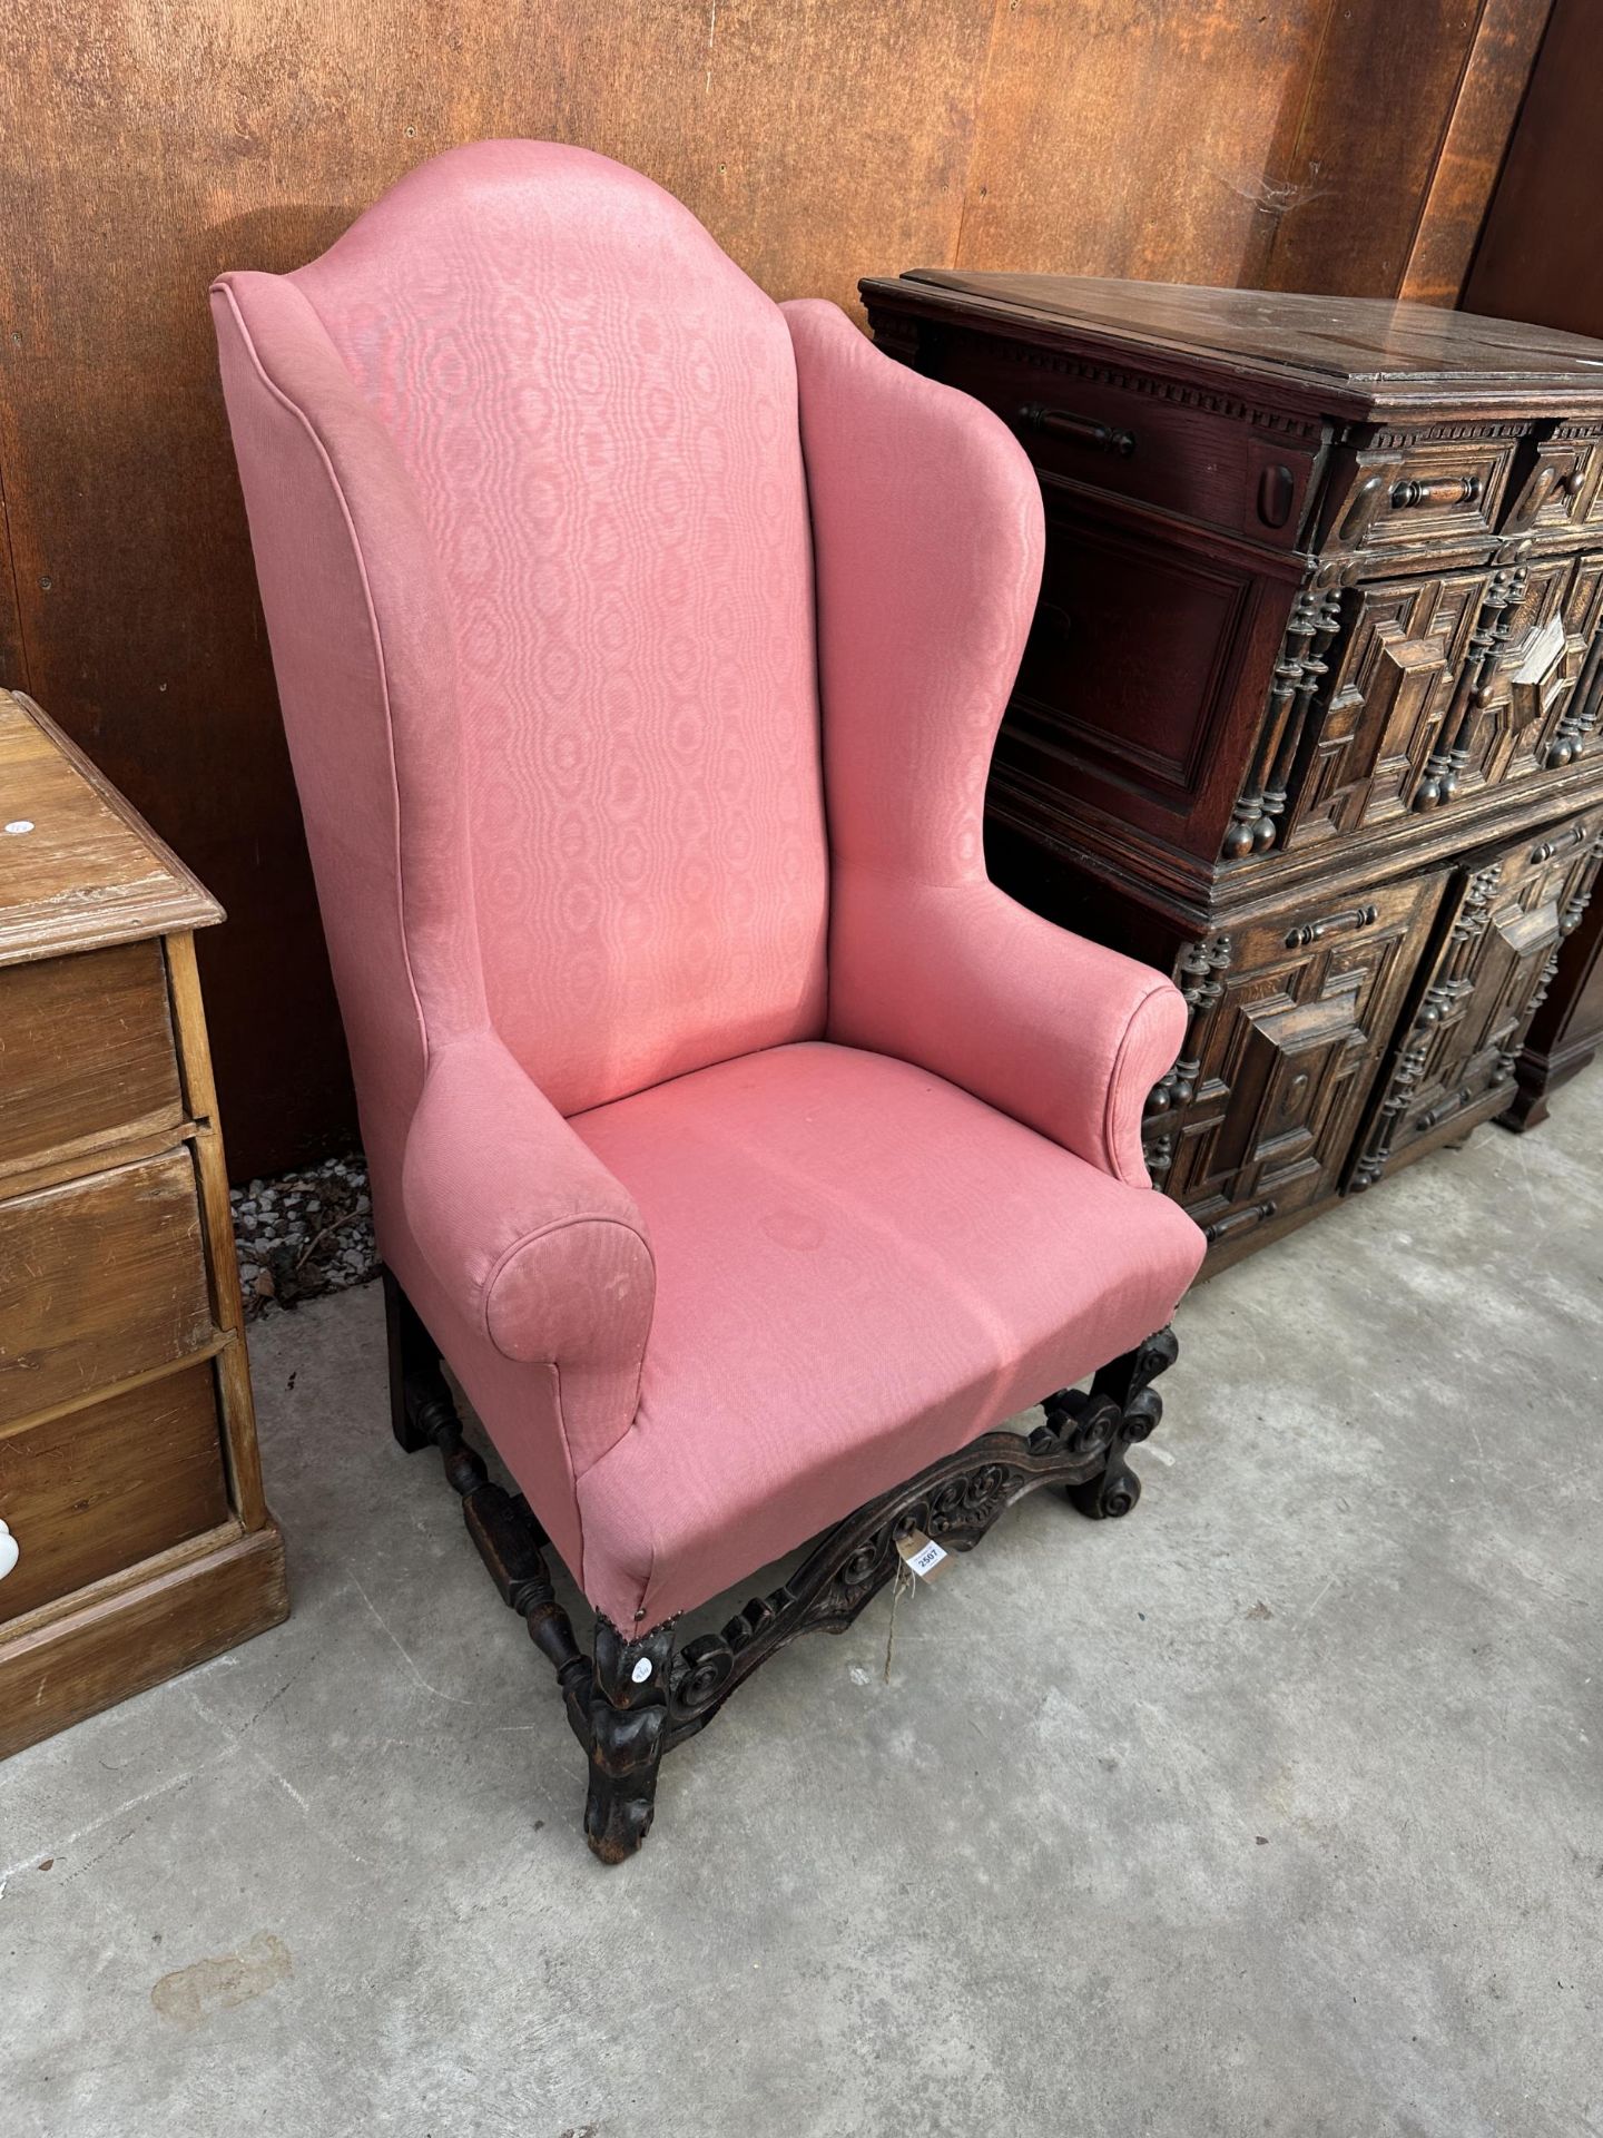
[[[212,1338],[188,1146],[0,1202],[0,1424]]]

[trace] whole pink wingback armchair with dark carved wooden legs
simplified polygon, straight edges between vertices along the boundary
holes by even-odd
[[[395,1435],[554,1661],[616,1862],[663,1751],[898,1544],[1135,1503],[1203,1253],[1139,1142],[1184,1005],[985,874],[1041,500],[977,402],[534,141],[212,301]]]

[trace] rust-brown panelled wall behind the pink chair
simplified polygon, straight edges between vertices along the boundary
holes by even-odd
[[[0,682],[229,907],[237,1176],[355,1112],[205,289],[483,135],[678,192],[776,297],[911,265],[1453,301],[1547,0],[11,0]]]

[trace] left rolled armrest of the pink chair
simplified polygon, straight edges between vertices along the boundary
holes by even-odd
[[[430,1058],[402,1202],[468,1328],[502,1358],[616,1379],[631,1424],[656,1296],[645,1223],[494,1033]]]

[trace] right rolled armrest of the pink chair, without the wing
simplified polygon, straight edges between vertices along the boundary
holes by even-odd
[[[1148,1187],[1141,1112],[1186,1037],[1173,981],[987,881],[842,898],[829,1037],[900,1054]]]

